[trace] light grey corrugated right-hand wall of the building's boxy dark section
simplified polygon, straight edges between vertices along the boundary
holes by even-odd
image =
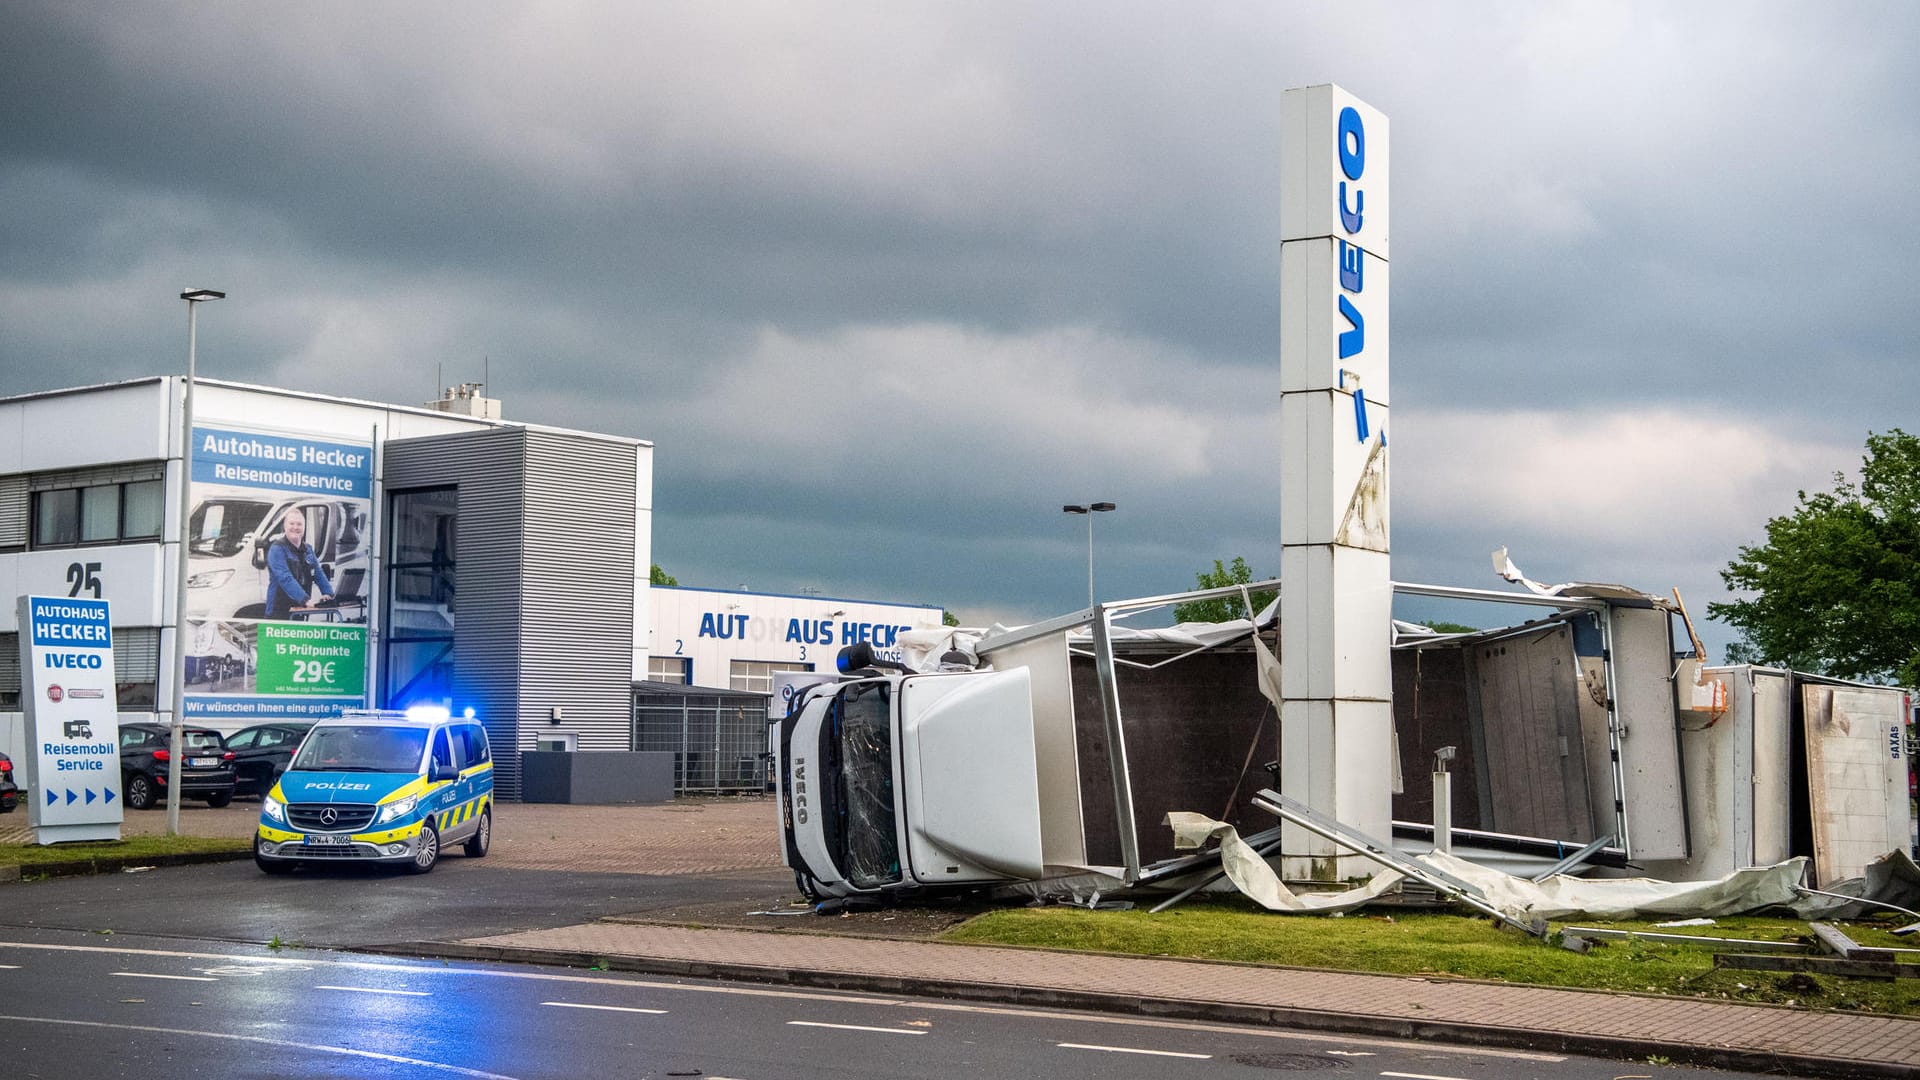
[[[634,505],[630,444],[526,432],[520,552],[520,724],[632,749]],[[564,707],[551,724],[551,709]]]

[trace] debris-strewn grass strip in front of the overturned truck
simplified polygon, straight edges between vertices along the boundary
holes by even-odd
[[[1619,930],[1653,930],[1653,922],[1578,920]],[[1860,945],[1914,945],[1885,932],[1895,924],[1849,922],[1845,930]],[[1738,917],[1661,932],[1811,942],[1807,924],[1791,919]],[[962,922],[941,940],[1920,1015],[1916,978],[1715,970],[1709,945],[1645,940],[1601,940],[1582,955],[1555,947],[1557,936],[1544,944],[1486,919],[1423,911],[1288,917],[1235,899],[1190,901],[1162,915],[1021,907]]]

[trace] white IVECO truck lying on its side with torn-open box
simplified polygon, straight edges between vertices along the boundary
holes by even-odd
[[[1279,776],[1273,605],[1125,626],[1277,584],[918,630],[899,661],[843,653],[839,676],[799,688],[774,721],[781,844],[801,890],[1169,880],[1187,865],[1173,813],[1284,855],[1254,799]],[[1513,872],[1578,853],[1599,874],[1686,882],[1807,855],[1809,884],[1824,888],[1910,842],[1901,690],[1703,667],[1697,644],[1676,650],[1676,603],[1620,586],[1396,592],[1538,611],[1467,634],[1394,623],[1398,751],[1380,769],[1396,776],[1396,849],[1434,846],[1436,755],[1452,774],[1442,840]]]

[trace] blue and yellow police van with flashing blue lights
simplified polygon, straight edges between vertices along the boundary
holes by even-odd
[[[486,728],[445,709],[348,709],[313,724],[259,801],[253,861],[269,874],[300,863],[399,863],[424,874],[461,844],[493,842],[493,755]]]

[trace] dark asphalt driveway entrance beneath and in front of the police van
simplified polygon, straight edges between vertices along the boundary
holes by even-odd
[[[455,853],[422,876],[351,865],[267,876],[248,859],[12,884],[0,892],[0,930],[278,938],[355,947],[566,926],[699,903],[778,905],[791,896],[793,874],[785,871],[678,876],[520,871]]]

